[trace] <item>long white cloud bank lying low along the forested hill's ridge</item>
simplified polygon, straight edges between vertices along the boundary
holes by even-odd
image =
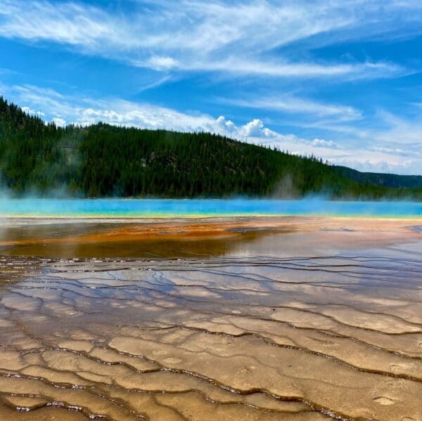
[[[300,155],[315,155],[331,163],[343,164],[364,171],[388,171],[399,174],[420,174],[422,168],[422,125],[404,122],[389,116],[390,129],[369,130],[359,142],[351,137],[343,141],[325,138],[301,138],[281,134],[255,118],[236,124],[224,116],[186,113],[145,103],[133,103],[116,98],[93,99],[62,96],[51,89],[36,86],[0,86],[8,98],[25,104],[30,110],[43,110],[45,118],[56,124],[65,122],[91,124],[107,122],[122,126],[177,131],[210,131],[248,141],[276,146]],[[387,118],[387,116],[384,116]],[[422,120],[421,120],[422,121]],[[399,138],[402,141],[394,143]]]

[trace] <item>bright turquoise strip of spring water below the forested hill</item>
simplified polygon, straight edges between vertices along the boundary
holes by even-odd
[[[0,217],[110,217],[329,215],[421,217],[422,202],[327,200],[53,200],[0,199]]]

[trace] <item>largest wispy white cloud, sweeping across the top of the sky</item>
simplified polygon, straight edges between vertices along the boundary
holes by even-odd
[[[117,7],[117,6],[116,6]],[[418,2],[402,11],[364,1],[136,1],[123,15],[75,2],[0,0],[0,36],[52,41],[160,72],[222,72],[265,77],[392,77],[395,63],[292,61],[276,48],[316,35],[341,32],[368,37],[395,32],[404,22],[417,30]],[[394,15],[394,19],[391,17]],[[369,25],[371,23],[371,25]],[[422,32],[422,31],[421,31]]]

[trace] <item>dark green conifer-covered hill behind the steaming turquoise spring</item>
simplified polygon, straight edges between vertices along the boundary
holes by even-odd
[[[61,190],[83,197],[323,193],[422,200],[419,181],[394,176],[383,185],[381,174],[368,174],[209,133],[102,123],[60,128],[0,97],[0,188],[18,196]]]

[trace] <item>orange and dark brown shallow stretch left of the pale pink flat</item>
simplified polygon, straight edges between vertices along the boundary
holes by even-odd
[[[199,221],[199,222],[198,222]],[[210,221],[179,220],[171,226],[148,223],[72,222],[6,224],[0,227],[0,253],[37,257],[209,257],[226,255],[293,226],[227,227]],[[232,227],[232,228],[231,228]]]

